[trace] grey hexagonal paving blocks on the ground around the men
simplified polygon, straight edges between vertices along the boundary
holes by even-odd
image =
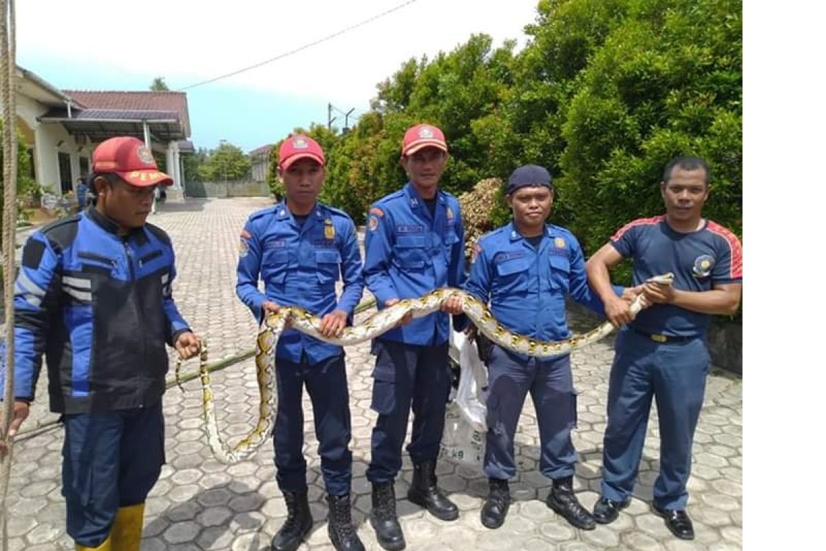
[[[246,216],[268,204],[263,199],[192,200],[164,205],[150,221],[172,236],[178,254],[174,296],[183,316],[207,339],[211,361],[230,358],[253,347],[255,322],[235,297],[238,236]],[[357,321],[368,314],[358,316]],[[576,330],[590,321],[572,319]],[[578,426],[573,433],[580,454],[575,488],[587,507],[599,496],[601,442],[605,430],[605,400],[613,355],[605,340],[573,354]],[[187,371],[197,368],[192,361]],[[373,357],[369,344],[347,349],[354,453],[354,521],[368,549],[381,549],[367,520],[370,484],[364,476],[370,459],[370,432],[376,414],[370,409]],[[213,374],[216,411],[222,434],[230,444],[254,423],[258,404],[251,360]],[[146,504],[145,551],[269,549],[269,540],[286,518],[274,480],[273,449],[265,444],[249,461],[227,466],[211,458],[202,432],[201,394],[197,380],[177,387],[164,398],[166,458],[161,478]],[[406,501],[412,466],[405,457],[396,481],[396,496],[407,549],[724,549],[742,548],[743,526],[743,395],[742,381],[713,369],[706,390],[694,446],[689,512],[696,539],[676,539],[653,515],[648,503],[656,478],[659,445],[656,409],[634,500],[615,523],[586,532],[572,528],[544,505],[550,481],[537,471],[539,437],[533,404],[526,401],[516,435],[519,477],[511,484],[515,503],[505,525],[487,530],[479,520],[487,479],[481,470],[439,463],[439,483],[462,511],[459,520],[444,522]],[[312,411],[305,401],[308,482],[316,524],[301,549],[332,549],[327,538],[323,481],[316,454]],[[24,429],[55,416],[45,411],[45,375],[40,399]],[[15,446],[7,511],[10,549],[73,549],[64,534],[64,501],[60,495],[62,431],[30,433]]]

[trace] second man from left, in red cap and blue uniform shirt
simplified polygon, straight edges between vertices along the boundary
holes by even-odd
[[[317,202],[324,184],[324,151],[306,135],[292,135],[278,150],[278,175],[287,199],[249,216],[241,232],[238,297],[259,322],[281,306],[301,306],[321,317],[321,333],[339,335],[353,321],[364,288],[361,254],[353,220]],[[344,290],[336,299],[339,274]],[[259,291],[263,279],[264,292]],[[278,411],[273,429],[278,487],[287,521],[271,549],[293,551],[312,528],[307,499],[304,411],[306,386],[316,421],[321,473],[330,505],[327,531],[339,551],[364,546],[350,515],[353,456],[344,349],[285,330],[276,349]]]

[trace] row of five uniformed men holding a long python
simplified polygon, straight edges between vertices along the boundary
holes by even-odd
[[[183,357],[196,354],[200,345],[171,297],[169,238],[145,224],[151,202],[146,190],[171,183],[147,154],[131,138],[98,146],[90,179],[97,204],[36,232],[17,279],[12,430],[27,415],[45,351],[51,407],[63,414],[66,427],[64,495],[69,534],[78,549],[138,549],[142,504],[163,463],[164,343],[175,345]],[[520,167],[505,189],[513,221],[477,242],[468,276],[462,213],[456,198],[439,188],[448,160],[438,127],[420,124],[406,131],[401,165],[409,182],[368,208],[362,262],[353,221],[317,201],[325,176],[320,145],[306,135],[288,137],[278,165],[286,198],[249,216],[241,232],[238,296],[259,321],[282,306],[301,306],[320,316],[321,332],[333,336],[352,324],[365,286],[379,309],[437,287],[460,287],[488,304],[508,330],[535,340],[570,336],[565,298],[572,297],[622,325],[610,376],[601,500],[591,513],[573,491],[577,392],[570,357],[536,359],[491,345],[485,354],[484,458],[490,491],[482,524],[496,529],[506,520],[508,480],[516,474],[516,425],[528,392],[539,425],[539,468],[552,480],[546,502],[582,530],[612,522],[628,505],[654,398],[662,451],[653,509],[677,537],[693,538],[686,482],[710,365],[705,335],[711,314],[737,309],[742,282],[739,241],[702,217],[710,192],[708,165],[695,157],[674,159],[660,183],[666,214],[630,222],[587,263],[572,233],[546,222],[555,195],[548,171]],[[634,287],[610,283],[609,268],[622,259],[634,261]],[[667,272],[676,276],[672,287],[646,282]],[[337,296],[339,278],[344,288]],[[640,294],[653,306],[632,320],[629,305]],[[461,303],[451,297],[441,311],[407,316],[373,341],[371,407],[377,420],[367,477],[373,486],[370,523],[383,549],[406,547],[395,480],[411,410],[406,449],[414,471],[407,498],[440,520],[458,519],[458,507],[439,489],[436,476],[450,385],[448,316],[453,330],[473,335]],[[336,549],[363,549],[350,515],[344,350],[285,330],[275,354],[273,443],[287,520],[271,548],[297,549],[312,526],[302,453],[306,387],[328,494],[330,540]],[[153,440],[149,449],[157,450],[151,458],[146,448],[135,451],[147,440]],[[138,456],[143,460],[135,462]],[[110,475],[92,477],[99,469]],[[105,499],[97,499],[96,492]],[[121,526],[122,511],[135,507],[140,517],[127,515],[130,522]],[[121,533],[127,525],[137,538],[129,540],[132,547],[118,543],[126,541]]]

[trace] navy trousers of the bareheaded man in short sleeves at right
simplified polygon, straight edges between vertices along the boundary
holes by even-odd
[[[654,482],[654,503],[663,509],[685,509],[691,444],[710,367],[708,345],[700,337],[657,343],[624,327],[617,335],[615,352],[603,443],[602,496],[623,501],[634,490],[653,398],[660,428],[660,475]]]

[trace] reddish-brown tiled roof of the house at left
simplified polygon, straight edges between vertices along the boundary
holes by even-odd
[[[192,135],[189,127],[187,94],[183,92],[117,92],[64,90],[67,96],[89,110],[127,112],[175,112],[183,124],[183,133]]]

